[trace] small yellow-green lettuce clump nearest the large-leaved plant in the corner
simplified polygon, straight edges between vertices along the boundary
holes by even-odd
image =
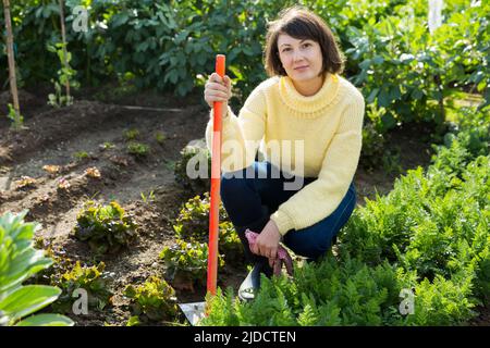
[[[111,303],[112,291],[109,289],[112,276],[105,272],[106,264],[82,266],[79,261],[72,270],[62,274],[51,275],[51,284],[63,290],[59,300],[53,303],[57,311],[68,313],[72,311],[73,294],[77,289],[87,291],[88,308],[102,310]]]

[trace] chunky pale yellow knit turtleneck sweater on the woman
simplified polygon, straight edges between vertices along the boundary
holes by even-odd
[[[301,95],[290,77],[271,77],[253,90],[238,116],[228,109],[221,170],[250,165],[260,147],[265,159],[282,171],[316,177],[271,215],[281,235],[309,227],[329,216],[347,192],[360,156],[364,110],[363,95],[336,74],[327,74],[310,97]],[[206,142],[211,150],[212,110]],[[278,144],[286,145],[279,157],[272,150]]]

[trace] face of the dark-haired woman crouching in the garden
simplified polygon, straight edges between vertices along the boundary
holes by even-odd
[[[320,75],[323,55],[318,42],[280,34],[278,50],[282,66],[293,80],[306,82]]]

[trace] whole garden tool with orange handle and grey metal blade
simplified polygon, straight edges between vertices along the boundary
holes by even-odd
[[[224,54],[216,57],[216,73],[224,77]],[[213,129],[211,153],[211,188],[209,208],[209,244],[208,244],[208,274],[207,293],[216,295],[218,276],[218,238],[219,238],[219,207],[221,185],[221,128],[222,128],[222,102],[213,104]],[[193,302],[179,304],[185,318],[192,325],[196,325],[200,319],[207,315],[206,302]]]

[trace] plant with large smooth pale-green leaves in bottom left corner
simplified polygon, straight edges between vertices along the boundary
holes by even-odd
[[[49,268],[52,260],[34,248],[33,237],[39,228],[25,223],[27,211],[0,216],[0,325],[72,326],[74,323],[59,314],[33,314],[54,302],[61,290],[46,285],[23,285],[37,272]]]

